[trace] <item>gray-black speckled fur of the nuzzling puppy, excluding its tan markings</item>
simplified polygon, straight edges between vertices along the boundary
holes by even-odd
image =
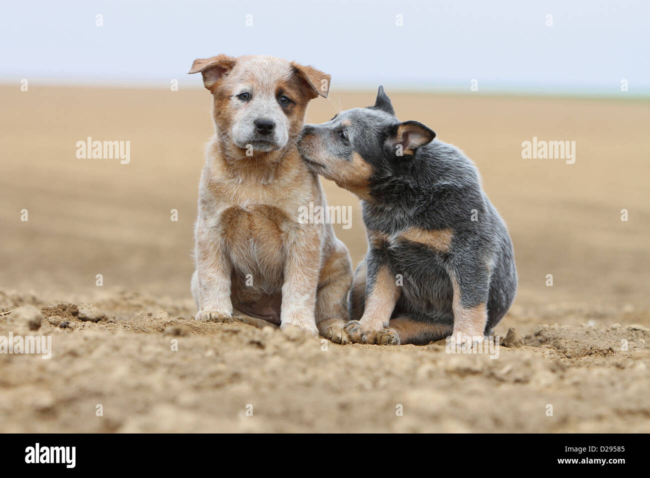
[[[348,144],[336,140],[345,120],[350,120],[346,126]],[[382,264],[404,277],[393,317],[407,315],[452,325],[453,272],[463,307],[487,302],[484,332],[490,334],[510,308],[517,290],[506,225],[482,190],[476,166],[456,146],[434,139],[413,155],[396,157],[386,140],[395,135],[398,124],[380,87],[374,106],[344,111],[324,124],[307,125],[304,133],[324,135],[332,157],[349,160],[357,152],[372,165],[369,193],[373,201],[362,201],[363,221],[369,230],[389,235],[410,227],[450,228],[453,232],[448,252],[403,241],[384,249],[369,246],[367,287],[372,287]],[[323,166],[308,164],[315,172],[326,172]],[[478,211],[475,221],[471,220],[473,209]],[[354,290],[350,293],[350,318],[359,319],[364,298],[353,295]]]

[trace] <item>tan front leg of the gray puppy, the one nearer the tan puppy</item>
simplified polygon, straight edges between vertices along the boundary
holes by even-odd
[[[380,267],[372,284],[370,293],[366,295],[365,310],[359,321],[365,330],[381,330],[388,325],[395,303],[400,297],[401,290],[395,283],[395,276],[387,266]]]

